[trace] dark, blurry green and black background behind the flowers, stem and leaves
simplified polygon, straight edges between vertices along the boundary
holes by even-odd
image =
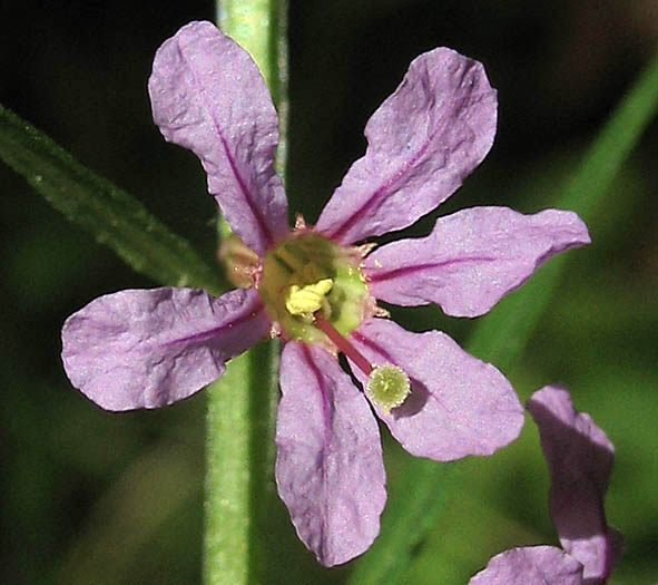
[[[6,2],[0,101],[82,164],[138,197],[209,261],[215,204],[197,159],[154,126],[146,81],[155,50],[213,2]],[[494,147],[439,214],[474,205],[536,212],[647,64],[655,0],[305,0],[289,14],[291,208],[310,222],[365,148],[363,127],[420,52],[449,46],[482,61],[499,90]],[[658,72],[657,72],[658,75]],[[627,552],[610,583],[658,579],[658,131],[652,124],[569,252],[559,291],[519,365],[522,400],[566,384],[617,448],[607,498]],[[153,286],[0,165],[4,315],[0,335],[0,581],[198,583],[204,393],[160,411],[112,415],[67,381],[63,320],[94,298]],[[432,217],[415,233],[428,233]],[[400,311],[462,344],[473,323],[439,309]],[[391,490],[411,456],[384,430]],[[438,464],[440,465],[440,464]],[[557,544],[548,470],[529,420],[520,441],[467,460],[470,489],[416,554],[410,583],[463,583],[498,552]],[[282,521],[288,583],[341,583]],[[278,582],[273,575],[273,583]]]

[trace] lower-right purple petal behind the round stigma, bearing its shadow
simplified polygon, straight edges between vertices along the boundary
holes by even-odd
[[[411,333],[392,321],[367,319],[351,339],[371,363],[393,363],[410,377],[402,406],[390,413],[373,406],[412,455],[439,461],[491,455],[519,436],[523,409],[510,382],[444,333]]]

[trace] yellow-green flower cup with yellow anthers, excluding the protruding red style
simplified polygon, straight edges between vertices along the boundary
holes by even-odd
[[[258,292],[286,339],[331,345],[318,313],[343,337],[374,311],[355,248],[310,231],[293,232],[263,260]]]

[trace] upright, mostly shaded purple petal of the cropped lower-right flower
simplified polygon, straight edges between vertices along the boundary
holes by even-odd
[[[549,464],[550,508],[560,543],[582,563],[586,579],[605,581],[622,546],[603,510],[615,447],[589,415],[573,409],[564,389],[547,386],[532,394],[527,408]]]

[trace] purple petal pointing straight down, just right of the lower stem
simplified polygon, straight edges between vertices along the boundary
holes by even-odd
[[[386,500],[380,432],[363,394],[324,350],[286,343],[276,482],[301,540],[325,566],[366,550]]]

